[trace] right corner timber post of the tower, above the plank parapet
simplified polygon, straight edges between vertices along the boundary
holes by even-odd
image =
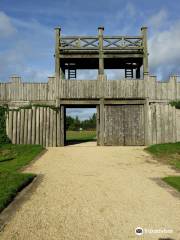
[[[147,48],[147,27],[141,28],[141,33],[143,37],[143,74],[149,74],[148,66],[148,48]]]

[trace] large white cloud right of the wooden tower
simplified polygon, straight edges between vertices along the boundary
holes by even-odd
[[[159,18],[157,22],[159,26],[169,27],[161,31],[155,30],[149,38],[150,69],[151,73],[167,79],[171,74],[180,73],[180,21],[169,24],[166,20],[161,23]]]

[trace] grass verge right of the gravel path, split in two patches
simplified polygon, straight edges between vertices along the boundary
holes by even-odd
[[[151,145],[146,150],[162,163],[180,170],[180,142]],[[168,176],[163,181],[180,191],[180,176]]]

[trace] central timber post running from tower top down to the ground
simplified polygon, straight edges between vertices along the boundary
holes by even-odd
[[[99,145],[104,145],[104,56],[103,56],[103,31],[104,27],[98,28],[99,37],[99,90],[100,90],[100,132]]]

